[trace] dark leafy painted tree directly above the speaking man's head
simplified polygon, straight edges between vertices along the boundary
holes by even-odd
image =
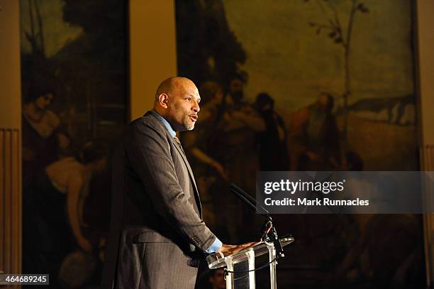
[[[223,2],[175,1],[177,58],[180,75],[197,84],[216,80],[228,84],[240,70],[247,55],[233,31],[230,31]]]

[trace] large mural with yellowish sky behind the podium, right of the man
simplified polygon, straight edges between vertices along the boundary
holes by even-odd
[[[258,170],[418,170],[413,1],[175,4],[179,75],[202,99],[182,141],[223,242],[259,234],[262,219],[228,192],[254,195]],[[420,216],[274,219],[297,240],[279,288],[423,288]]]

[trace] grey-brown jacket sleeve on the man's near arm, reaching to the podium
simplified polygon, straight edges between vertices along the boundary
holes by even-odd
[[[126,154],[157,213],[190,244],[205,251],[216,236],[206,227],[180,187],[170,148],[165,133],[148,124],[140,124],[130,130]]]

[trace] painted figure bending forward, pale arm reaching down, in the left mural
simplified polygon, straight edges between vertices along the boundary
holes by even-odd
[[[27,245],[34,250],[27,253],[36,254],[31,260],[38,263],[28,265],[50,273],[50,283],[57,282],[60,264],[67,254],[76,249],[92,252],[93,246],[82,231],[82,212],[92,173],[105,168],[104,146],[87,143],[80,156],[56,160],[35,176],[33,209],[28,208],[34,217],[33,238]]]

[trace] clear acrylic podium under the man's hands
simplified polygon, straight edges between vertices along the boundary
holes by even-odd
[[[293,241],[294,238],[292,237],[280,239],[282,247],[291,244]],[[255,258],[264,255],[265,253],[268,253],[269,255],[269,263],[265,263],[264,266],[269,266],[270,288],[276,289],[277,261],[276,249],[274,248],[273,243],[261,241],[258,242],[258,244],[255,244],[255,246],[226,257],[215,253],[208,256],[206,261],[208,261],[208,267],[210,269],[227,267],[228,274],[226,275],[226,289],[254,289]]]

